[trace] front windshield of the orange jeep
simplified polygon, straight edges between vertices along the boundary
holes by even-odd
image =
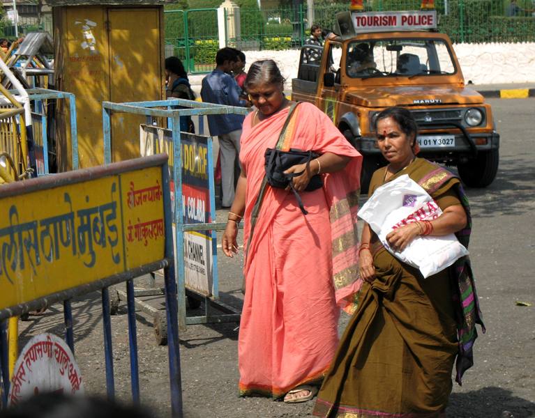
[[[453,75],[455,63],[442,39],[382,39],[350,42],[345,57],[349,77]]]

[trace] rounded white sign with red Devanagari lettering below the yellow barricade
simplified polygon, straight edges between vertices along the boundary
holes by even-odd
[[[82,374],[67,343],[54,334],[34,336],[15,363],[8,405],[40,392],[84,394]]]

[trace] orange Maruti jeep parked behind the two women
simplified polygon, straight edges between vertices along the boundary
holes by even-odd
[[[304,46],[297,78],[292,79],[292,100],[322,109],[363,154],[362,192],[368,190],[373,171],[386,164],[375,144],[374,118],[394,105],[407,107],[416,119],[419,155],[456,165],[468,186],[488,186],[499,159],[490,104],[465,86],[449,37],[400,27],[403,13],[354,14],[355,31],[339,24],[342,36],[328,38],[323,48]],[[421,23],[421,13],[436,19],[434,11],[410,12],[416,17],[404,22]],[[398,16],[395,30],[392,15]],[[429,21],[434,23],[431,17]],[[362,27],[366,22],[375,24],[372,30]],[[311,54],[312,49],[320,54]]]

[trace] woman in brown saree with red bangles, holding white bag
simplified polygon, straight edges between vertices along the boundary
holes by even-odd
[[[436,219],[409,223],[386,235],[402,251],[420,235],[458,233],[468,245],[468,200],[460,180],[417,158],[416,122],[407,109],[391,107],[375,118],[377,146],[389,162],[373,173],[375,190],[407,174],[442,209]],[[457,357],[457,382],[472,366],[476,323],[483,327],[469,259],[424,279],[403,263],[364,224],[359,276],[365,281],[358,308],[346,327],[319,391],[318,417],[445,417]],[[483,327],[483,332],[485,328]]]

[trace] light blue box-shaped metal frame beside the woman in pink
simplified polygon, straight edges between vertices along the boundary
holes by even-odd
[[[183,107],[176,109],[176,107]],[[188,135],[186,132],[180,132],[180,117],[181,116],[198,116],[199,117],[199,132],[204,132],[204,124],[202,118],[211,114],[248,114],[249,109],[244,107],[223,106],[220,104],[211,104],[205,102],[195,102],[192,100],[172,99],[172,100],[158,100],[151,102],[126,102],[113,103],[103,102],[103,130],[104,130],[104,161],[105,164],[112,162],[112,138],[111,138],[111,118],[115,113],[129,113],[146,116],[147,125],[153,124],[153,118],[167,118],[169,122],[169,155],[172,155],[171,181],[174,184],[172,187],[172,196],[174,196],[174,210],[173,221],[176,226],[175,238],[175,263],[177,266],[176,282],[178,286],[178,307],[179,307],[179,327],[181,330],[186,328],[186,325],[200,324],[200,323],[222,323],[222,322],[237,322],[239,321],[239,311],[229,307],[220,300],[218,300],[218,272],[217,272],[217,249],[216,249],[216,231],[225,229],[226,224],[214,222],[216,219],[216,199],[215,199],[215,184],[213,178],[213,158],[212,158],[212,140],[211,137],[206,137],[207,161],[206,161],[206,176],[209,183],[209,206],[210,206],[210,220],[202,223],[188,223],[184,222],[183,216],[183,141],[186,141]],[[213,287],[209,295],[201,295],[204,297],[204,316],[187,317],[186,316],[186,281],[185,281],[185,263],[184,263],[184,239],[185,233],[196,231],[209,231],[212,240],[212,257],[213,257]],[[188,292],[192,291],[188,289]],[[218,309],[223,314],[215,315],[209,313],[209,308]]]

